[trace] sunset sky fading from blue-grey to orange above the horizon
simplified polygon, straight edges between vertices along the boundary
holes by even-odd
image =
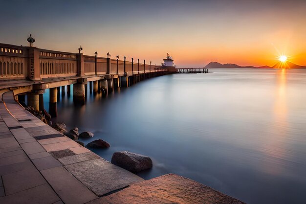
[[[306,0],[0,0],[0,43],[177,67],[306,65]]]

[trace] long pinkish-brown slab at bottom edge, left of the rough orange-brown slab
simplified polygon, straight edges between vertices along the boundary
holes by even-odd
[[[41,172],[65,204],[84,204],[98,198],[61,166]]]

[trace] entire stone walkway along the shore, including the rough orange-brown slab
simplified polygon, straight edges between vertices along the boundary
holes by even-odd
[[[0,102],[0,204],[244,204],[174,174],[148,181],[25,111]]]

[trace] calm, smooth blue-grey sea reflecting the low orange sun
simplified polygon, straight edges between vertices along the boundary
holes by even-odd
[[[92,149],[153,159],[151,179],[175,173],[248,204],[306,203],[306,70],[211,69],[172,74],[87,93],[84,106],[61,97],[58,118],[68,129],[109,141]],[[48,91],[44,95],[48,108]]]

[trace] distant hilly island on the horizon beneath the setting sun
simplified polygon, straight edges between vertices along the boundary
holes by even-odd
[[[296,65],[292,62],[278,62],[274,66],[262,66],[262,67],[254,67],[254,66],[240,66],[236,64],[221,64],[219,62],[210,62],[208,65],[206,65],[204,68],[306,68],[305,66]]]

